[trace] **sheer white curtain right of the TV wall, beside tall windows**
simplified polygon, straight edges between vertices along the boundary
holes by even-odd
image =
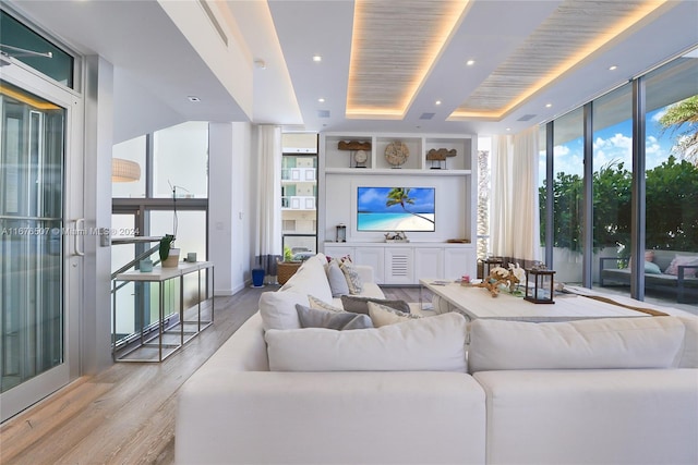
[[[538,126],[493,138],[491,218],[493,255],[540,260]]]

